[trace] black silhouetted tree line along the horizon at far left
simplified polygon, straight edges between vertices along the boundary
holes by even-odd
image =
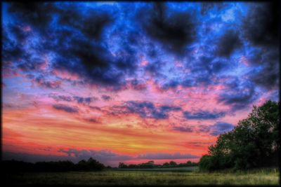
[[[77,164],[67,161],[51,162],[23,162],[18,160],[1,161],[1,169],[4,172],[68,172],[68,171],[100,171],[105,165],[89,158],[80,160]]]

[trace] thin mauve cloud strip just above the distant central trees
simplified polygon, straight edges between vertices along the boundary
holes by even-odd
[[[140,159],[149,159],[149,160],[164,160],[164,159],[190,159],[190,158],[200,158],[197,155],[191,155],[191,154],[181,154],[181,153],[146,153],[143,155],[138,155],[137,158]]]

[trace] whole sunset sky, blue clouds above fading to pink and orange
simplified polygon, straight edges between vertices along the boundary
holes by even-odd
[[[197,162],[279,98],[278,6],[2,3],[2,153]]]

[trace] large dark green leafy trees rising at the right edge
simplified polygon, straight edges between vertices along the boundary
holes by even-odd
[[[201,170],[278,167],[280,102],[254,106],[249,116],[230,132],[219,135],[199,162]]]

